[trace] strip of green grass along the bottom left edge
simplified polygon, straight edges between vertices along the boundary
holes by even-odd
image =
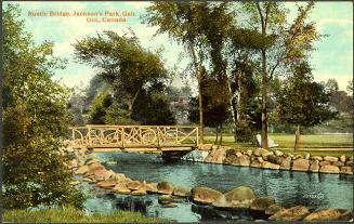
[[[3,213],[4,222],[14,223],[160,223],[166,219],[146,218],[137,212],[116,211],[112,214],[91,215],[74,208],[38,211],[10,210]]]

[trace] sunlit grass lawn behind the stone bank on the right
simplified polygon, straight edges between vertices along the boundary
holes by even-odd
[[[276,149],[291,154],[311,154],[312,156],[352,156],[353,135],[352,134],[324,134],[324,135],[301,135],[300,150],[293,150],[294,135],[270,134],[276,144]],[[214,143],[215,136],[205,136],[205,143]],[[252,143],[234,143],[233,136],[223,136],[223,145],[231,146],[237,150],[254,150]]]

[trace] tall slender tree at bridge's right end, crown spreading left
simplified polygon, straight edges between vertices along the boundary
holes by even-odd
[[[144,23],[158,26],[157,34],[168,34],[170,38],[182,43],[192,60],[195,77],[198,81],[200,143],[204,140],[204,116],[201,93],[201,65],[204,52],[200,25],[205,19],[207,2],[154,2],[146,10]]]

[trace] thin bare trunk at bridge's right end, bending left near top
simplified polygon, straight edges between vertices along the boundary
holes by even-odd
[[[193,63],[194,67],[196,69],[196,77],[198,80],[198,91],[199,91],[199,143],[204,143],[204,121],[202,121],[202,94],[201,94],[201,80],[202,80],[202,75],[200,70],[200,63],[197,60],[197,55],[194,49],[194,44],[191,45],[191,51],[192,51],[192,57],[193,57]]]

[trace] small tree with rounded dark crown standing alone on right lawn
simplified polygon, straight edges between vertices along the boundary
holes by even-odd
[[[336,116],[328,103],[329,95],[324,85],[313,81],[310,65],[306,62],[294,65],[277,108],[283,121],[297,126],[294,150],[299,148],[301,127],[312,127]]]

